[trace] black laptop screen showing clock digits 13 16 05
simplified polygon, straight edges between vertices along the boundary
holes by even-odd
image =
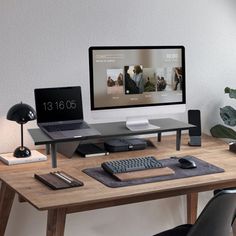
[[[83,120],[81,87],[34,90],[37,122]]]

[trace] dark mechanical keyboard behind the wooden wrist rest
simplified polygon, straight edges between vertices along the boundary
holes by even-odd
[[[153,156],[107,161],[103,162],[101,166],[106,172],[110,174],[126,173],[163,167],[162,163]]]

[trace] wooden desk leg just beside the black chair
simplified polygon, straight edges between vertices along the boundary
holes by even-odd
[[[197,219],[198,193],[187,194],[187,223],[194,224]]]

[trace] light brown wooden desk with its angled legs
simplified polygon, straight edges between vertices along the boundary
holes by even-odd
[[[11,206],[17,193],[38,210],[48,211],[47,236],[64,235],[66,214],[99,209],[153,199],[187,195],[187,219],[193,223],[197,214],[198,192],[236,185],[236,156],[228,151],[227,144],[204,136],[202,147],[189,147],[188,135],[183,136],[181,151],[173,150],[174,136],[164,136],[157,148],[142,151],[115,153],[93,158],[67,159],[58,155],[63,170],[84,182],[83,187],[53,191],[33,178],[35,172],[51,171],[50,161],[19,166],[0,165],[0,236],[4,235]],[[142,184],[122,188],[109,188],[82,173],[88,167],[99,166],[110,158],[154,155],[158,159],[170,156],[194,155],[225,169],[225,172],[205,176]],[[40,171],[39,171],[40,170]]]

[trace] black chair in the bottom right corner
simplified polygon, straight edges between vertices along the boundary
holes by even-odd
[[[207,203],[193,225],[180,225],[154,236],[229,236],[235,213],[236,190],[222,190]]]

